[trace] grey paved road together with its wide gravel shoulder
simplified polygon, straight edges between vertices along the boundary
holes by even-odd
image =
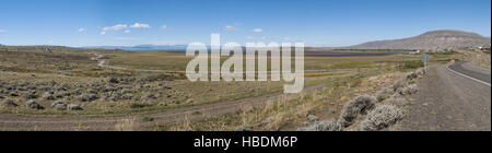
[[[462,69],[461,64],[431,68],[419,81],[419,93],[410,97],[411,105],[397,130],[491,130],[491,86],[487,84],[490,75]]]

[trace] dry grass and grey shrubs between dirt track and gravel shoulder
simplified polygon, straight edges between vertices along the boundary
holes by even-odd
[[[359,126],[352,126],[355,125],[353,122],[361,120],[362,117],[359,115],[366,115],[373,108],[387,109],[387,107],[393,108],[395,105],[402,107],[406,103],[405,96],[417,92],[414,91],[415,85],[412,84],[414,79],[417,79],[415,73],[407,74],[400,71],[374,70],[376,69],[362,70],[359,73],[349,75],[332,76],[326,80],[327,82],[323,87],[294,99],[280,97],[262,106],[251,107],[245,105],[234,114],[195,122],[185,120],[178,125],[156,126],[149,130],[364,130],[355,128]],[[382,86],[389,87],[382,89]],[[373,95],[365,95],[367,93]],[[353,101],[351,101],[352,98]],[[379,106],[375,107],[376,103],[382,105],[380,108]],[[399,110],[400,108],[398,108],[398,113],[400,113]],[[377,113],[374,114],[373,116],[379,115]],[[339,116],[342,119],[337,120]],[[375,118],[379,119],[378,117]],[[367,130],[382,130],[389,127],[389,125],[373,125],[372,127],[375,128]]]

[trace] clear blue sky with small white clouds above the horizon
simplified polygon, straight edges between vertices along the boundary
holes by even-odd
[[[223,43],[349,46],[434,30],[491,35],[491,0],[2,0],[0,5],[4,45],[186,45],[209,43],[211,33],[220,33]]]

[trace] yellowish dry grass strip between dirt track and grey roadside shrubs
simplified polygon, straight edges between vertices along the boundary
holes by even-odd
[[[320,119],[337,118],[342,109],[342,104],[355,96],[356,93],[375,92],[379,90],[375,86],[389,85],[394,80],[405,74],[379,74],[370,70],[363,73],[365,74],[331,78],[325,87],[301,95],[295,99],[280,98],[265,106],[244,107],[235,114],[195,121],[191,130],[231,131],[244,129],[246,126],[251,126],[253,130],[258,131],[296,130],[298,127],[303,127],[308,115],[316,114]],[[183,123],[150,128],[150,130],[168,129],[184,130],[187,128]]]

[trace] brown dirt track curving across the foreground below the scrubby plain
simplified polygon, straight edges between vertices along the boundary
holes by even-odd
[[[136,116],[116,116],[102,118],[87,118],[83,116],[20,116],[13,114],[0,115],[0,130],[43,130],[43,131],[77,131],[77,130],[119,130],[117,127],[121,122],[131,121],[133,130],[153,125],[169,125],[188,119],[190,121],[200,120],[213,116],[220,116],[229,113],[235,113],[242,107],[262,106],[280,99],[293,99],[300,95],[315,92],[324,85],[305,87],[298,94],[277,93],[267,96],[250,97],[238,101],[221,102],[209,105],[191,106],[186,108],[176,108],[163,113]],[[199,113],[199,114],[197,114]],[[155,118],[154,121],[142,121],[144,117]],[[127,123],[128,125],[128,123]]]

